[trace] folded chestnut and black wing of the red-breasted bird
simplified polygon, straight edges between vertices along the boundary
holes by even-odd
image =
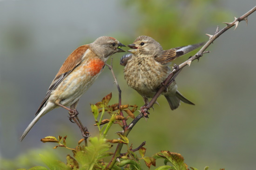
[[[62,82],[62,80],[65,77],[67,77],[72,72],[72,70],[81,63],[82,57],[84,56],[84,54],[88,50],[88,48],[89,48],[88,45],[82,45],[82,46],[78,47],[76,50],[74,50],[67,57],[66,61],[62,64],[61,69],[55,76],[52,84],[50,85],[50,87],[46,93],[46,96],[45,96],[44,100],[42,101],[40,107],[38,108],[37,112],[35,113],[35,115],[37,115],[40,112],[41,108],[45,105],[45,103],[48,100],[49,96],[51,95],[52,91],[55,90],[58,87],[58,85]]]

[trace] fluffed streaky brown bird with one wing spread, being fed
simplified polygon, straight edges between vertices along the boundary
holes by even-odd
[[[163,50],[161,44],[148,36],[140,36],[133,44],[129,44],[128,54],[121,57],[120,64],[124,67],[124,78],[129,87],[135,89],[142,97],[146,106],[148,98],[153,98],[162,82],[171,72],[168,66],[175,58],[180,57],[204,43],[176,47]],[[180,101],[195,105],[186,99],[178,90],[176,82],[172,82],[162,92],[168,101],[171,110],[180,106]],[[155,102],[156,104],[157,101]],[[153,107],[154,108],[154,107]]]

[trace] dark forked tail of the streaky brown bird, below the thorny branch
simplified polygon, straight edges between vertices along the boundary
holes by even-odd
[[[184,103],[188,103],[190,105],[195,105],[194,103],[186,99],[179,91],[176,91],[175,95],[165,95],[165,98],[167,99],[172,110],[180,106],[180,101],[183,101]]]

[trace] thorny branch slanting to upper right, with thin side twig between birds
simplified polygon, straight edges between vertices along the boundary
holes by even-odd
[[[245,13],[243,16],[239,17],[239,18],[235,18],[235,20],[232,23],[225,23],[227,24],[226,27],[224,27],[221,31],[219,31],[219,26],[217,26],[216,32],[214,33],[214,35],[209,35],[206,34],[207,36],[209,36],[209,41],[206,42],[206,44],[201,48],[201,50],[199,50],[193,57],[190,57],[187,61],[185,61],[184,63],[181,63],[180,65],[175,65],[174,69],[172,70],[172,72],[169,74],[169,76],[167,77],[167,79],[162,83],[161,88],[159,88],[159,90],[156,92],[155,96],[152,98],[152,100],[148,103],[148,105],[144,105],[144,107],[141,107],[141,113],[128,125],[126,126],[126,128],[124,128],[124,132],[123,132],[123,136],[128,136],[129,132],[132,130],[133,126],[135,126],[135,124],[144,116],[147,115],[148,113],[148,109],[150,107],[153,106],[153,104],[155,103],[156,99],[159,97],[160,94],[162,94],[162,92],[165,90],[165,88],[171,84],[171,82],[174,81],[175,77],[179,74],[179,72],[182,70],[183,67],[185,67],[186,65],[191,64],[192,61],[194,61],[195,59],[198,59],[200,57],[202,57],[202,55],[204,53],[209,53],[209,51],[205,51],[210,44],[213,43],[213,41],[218,38],[221,34],[223,34],[225,31],[227,31],[229,28],[233,27],[234,25],[238,25],[238,23],[242,20],[246,21],[246,24],[248,23],[248,19],[247,17],[256,11],[256,6],[254,8],[252,8],[251,10],[249,10],[247,13]],[[236,29],[235,27],[235,29]],[[119,106],[121,105],[121,90],[119,88],[119,85],[116,81],[113,69],[112,69],[112,61],[111,61],[111,66],[109,66],[108,64],[106,64],[109,69],[111,69],[111,72],[114,76],[115,79],[115,83],[117,85],[118,91],[119,91]],[[125,121],[126,122],[126,121]],[[108,166],[106,167],[105,170],[110,170],[114,165],[117,159],[119,159],[121,157],[121,148],[122,148],[123,144],[119,143],[116,147],[115,153],[113,155],[113,157],[111,158],[111,161],[109,162]]]

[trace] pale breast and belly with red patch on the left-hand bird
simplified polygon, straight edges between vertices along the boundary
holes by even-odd
[[[49,100],[70,106],[93,84],[105,63],[99,58],[85,59],[52,92]]]

